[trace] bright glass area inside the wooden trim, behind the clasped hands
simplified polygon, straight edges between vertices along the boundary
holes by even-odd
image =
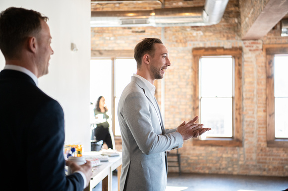
[[[199,60],[200,121],[212,128],[208,137],[233,137],[234,98],[233,59],[231,56],[201,57]]]

